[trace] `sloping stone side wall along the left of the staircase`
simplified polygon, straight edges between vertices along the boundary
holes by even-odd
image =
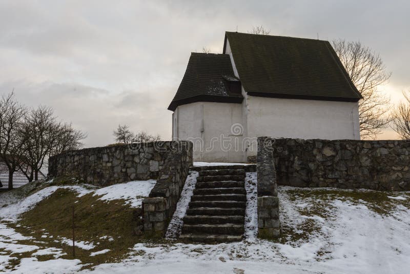
[[[176,209],[180,194],[193,165],[193,144],[178,143],[176,152],[169,153],[149,198],[144,199],[144,231],[163,236]]]

